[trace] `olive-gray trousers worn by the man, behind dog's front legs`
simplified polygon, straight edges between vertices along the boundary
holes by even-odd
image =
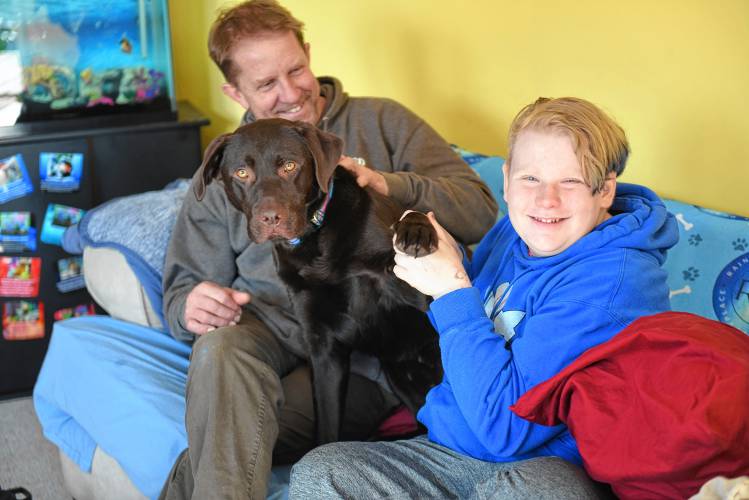
[[[249,312],[193,346],[187,378],[188,449],[161,499],[262,499],[273,463],[291,463],[314,443],[310,372]],[[352,374],[342,439],[366,439],[399,404]]]

